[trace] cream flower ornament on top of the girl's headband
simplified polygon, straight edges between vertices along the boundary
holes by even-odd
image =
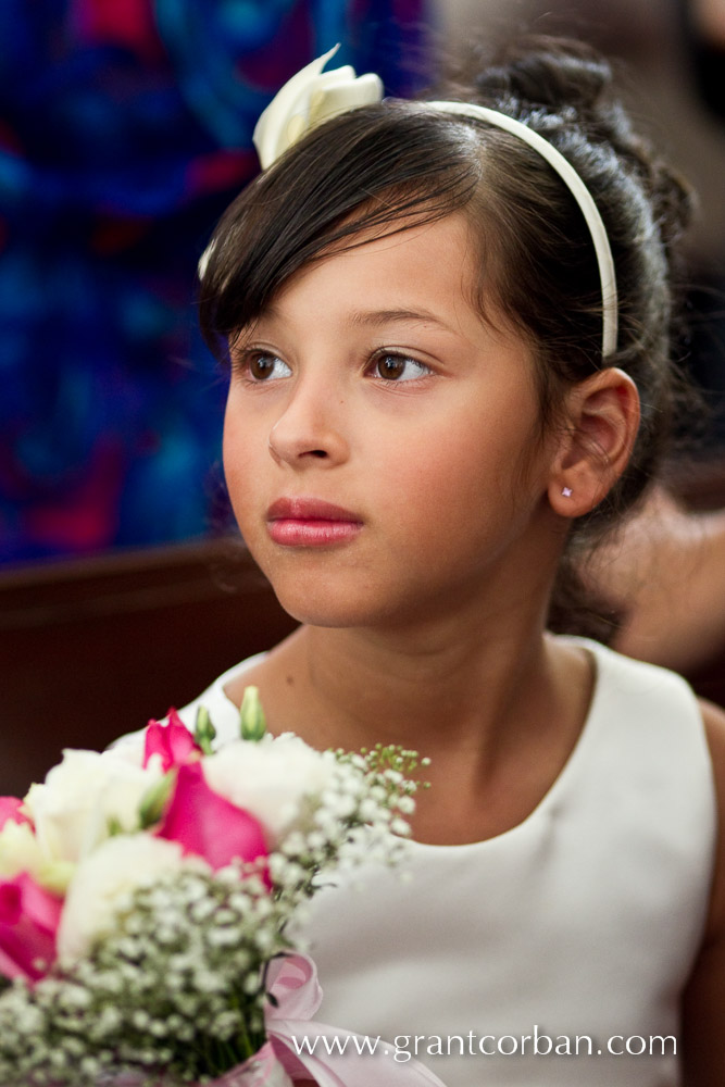
[[[383,98],[383,83],[372,72],[355,77],[349,64],[333,72],[322,71],[338,48],[335,46],[293,75],[257,122],[252,139],[263,170],[315,125]]]

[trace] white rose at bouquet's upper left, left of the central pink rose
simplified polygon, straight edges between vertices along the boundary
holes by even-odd
[[[113,750],[65,750],[23,802],[46,861],[80,860],[109,836],[110,822],[135,830],[141,798],[161,776],[157,764],[143,770]]]

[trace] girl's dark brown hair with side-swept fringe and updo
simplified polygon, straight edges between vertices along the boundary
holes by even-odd
[[[386,100],[313,129],[230,205],[201,284],[210,345],[253,322],[304,264],[370,232],[463,212],[478,238],[477,304],[490,302],[534,349],[542,427],[562,390],[604,365],[625,370],[641,400],[630,463],[607,498],[574,523],[550,620],[602,637],[574,591],[585,546],[629,509],[671,429],[680,379],[672,360],[676,241],[689,213],[683,184],[637,137],[611,97],[611,71],[579,42],[528,39],[438,98],[508,113],[545,136],[589,188],[608,230],[620,297],[616,353],[602,359],[601,291],[591,237],[568,189],[532,148],[479,121],[424,102]],[[364,240],[363,238],[363,240]]]

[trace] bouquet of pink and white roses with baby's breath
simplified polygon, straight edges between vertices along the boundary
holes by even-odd
[[[0,800],[3,1087],[310,1077],[284,1042],[320,1000],[289,923],[333,866],[390,857],[416,757],[272,738],[254,688],[213,738],[172,711]]]

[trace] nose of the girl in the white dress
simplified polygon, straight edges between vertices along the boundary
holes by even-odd
[[[342,398],[329,390],[298,388],[270,432],[272,457],[296,467],[347,460],[342,410]]]

